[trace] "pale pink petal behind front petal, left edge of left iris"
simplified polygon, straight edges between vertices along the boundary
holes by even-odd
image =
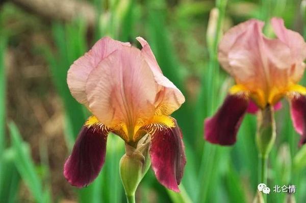
[[[67,83],[72,96],[78,102],[88,106],[87,97],[85,94],[85,86],[89,73],[97,67],[98,63],[109,56],[122,45],[131,46],[130,43],[113,40],[109,37],[104,37],[97,41],[91,50],[70,66],[67,75]]]

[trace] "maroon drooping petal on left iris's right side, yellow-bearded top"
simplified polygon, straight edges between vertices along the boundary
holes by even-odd
[[[150,158],[157,180],[165,187],[179,192],[186,164],[182,132],[175,119],[175,126],[151,124]]]

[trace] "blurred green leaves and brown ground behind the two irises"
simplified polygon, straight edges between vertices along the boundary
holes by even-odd
[[[125,202],[118,172],[124,143],[117,136],[109,136],[106,163],[89,187],[76,189],[62,174],[89,115],[69,93],[67,70],[106,35],[138,47],[135,37],[144,37],[166,77],[186,96],[173,115],[187,154],[182,193],[161,186],[149,170],[136,200],[252,202],[259,184],[256,116],[246,115],[232,147],[203,140],[203,120],[234,82],[219,67],[218,41],[239,22],[268,22],[272,16],[306,36],[305,8],[306,1],[297,0],[0,1],[0,202]],[[265,32],[273,36],[269,26]],[[305,82],[306,77],[301,84]],[[267,200],[290,199],[272,190],[293,184],[291,200],[306,202],[306,147],[298,148],[289,105],[282,102],[268,163]]]

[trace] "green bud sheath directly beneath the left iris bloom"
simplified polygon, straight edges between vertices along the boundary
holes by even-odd
[[[139,140],[137,147],[125,144],[125,154],[120,160],[120,177],[127,197],[134,196],[136,189],[150,167],[149,137]]]

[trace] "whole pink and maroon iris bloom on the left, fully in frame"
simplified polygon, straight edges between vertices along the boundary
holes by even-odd
[[[67,181],[91,183],[105,162],[109,132],[135,146],[150,136],[150,160],[158,181],[179,191],[186,164],[182,132],[169,115],[185,102],[164,77],[149,44],[142,49],[105,37],[68,70],[72,96],[93,114],[87,119],[64,166]]]

